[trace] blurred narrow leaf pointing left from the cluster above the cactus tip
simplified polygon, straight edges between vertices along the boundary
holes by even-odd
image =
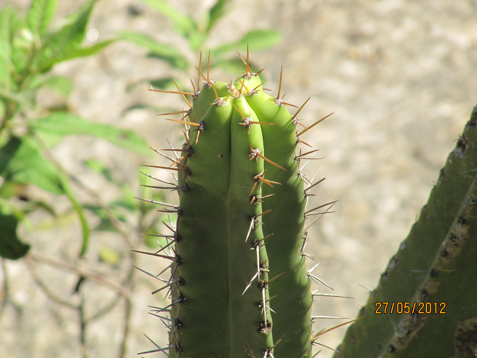
[[[148,57],[159,58],[182,70],[187,70],[189,67],[187,59],[174,46],[158,42],[148,35],[137,32],[122,31],[119,37],[149,50]]]

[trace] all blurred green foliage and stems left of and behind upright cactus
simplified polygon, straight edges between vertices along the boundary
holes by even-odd
[[[122,331],[118,357],[124,358],[128,334],[131,331],[131,293],[134,292],[137,281],[136,255],[132,250],[141,244],[154,249],[167,245],[166,238],[159,237],[166,233],[157,235],[156,228],[160,221],[172,227],[176,222],[176,214],[167,211],[157,213],[157,203],[166,201],[168,194],[154,189],[157,178],[151,175],[154,170],[152,168],[141,169],[145,175],[141,175],[139,179],[140,190],[132,190],[131,188],[137,188],[137,185],[125,183],[114,168],[97,158],[85,160],[83,166],[89,174],[103,181],[101,190],[118,193],[114,199],[105,201],[102,193],[83,183],[75,173],[66,171],[55,159],[54,148],[62,143],[65,137],[72,135],[101,138],[142,156],[151,155],[152,152],[145,139],[132,130],[93,123],[72,113],[68,97],[74,91],[74,83],[71,78],[54,74],[52,70],[58,63],[91,56],[100,53],[115,41],[127,40],[145,47],[149,51],[148,57],[165,61],[187,78],[196,71],[196,61],[192,63],[191,59],[198,60],[200,50],[207,46],[211,32],[226,14],[228,1],[218,0],[207,11],[203,21],[198,23],[190,16],[176,11],[165,1],[145,0],[146,4],[172,21],[178,36],[189,44],[191,53],[186,54],[176,48],[176,41],[166,44],[157,41],[150,34],[127,31],[118,34],[117,38],[85,46],[83,40],[96,2],[97,0],[82,0],[81,5],[75,5],[78,6],[75,12],[66,18],[55,20],[56,24],[52,24],[52,19],[55,17],[57,0],[31,0],[26,11],[12,6],[0,8],[0,263],[3,275],[0,317],[7,305],[17,308],[15,295],[10,292],[8,264],[4,259],[16,260],[23,257],[22,262],[36,287],[56,304],[77,311],[80,329],[77,341],[81,342],[83,357],[88,356],[89,349],[87,340],[83,339],[87,336],[87,326],[111,312],[116,304],[123,300],[124,321],[118,326]],[[72,2],[72,6],[74,4]],[[234,31],[233,27],[227,28]],[[210,67],[242,70],[241,61],[231,58],[235,57],[236,50],[245,51],[247,44],[251,50],[265,49],[278,41],[280,34],[276,31],[249,31],[238,41],[212,48],[211,56],[214,61],[210,63]],[[203,63],[205,61],[207,60],[203,56]],[[149,82],[159,88],[173,84],[169,77],[160,77]],[[54,95],[54,106],[44,105],[40,99],[41,93]],[[135,105],[136,108],[144,106]],[[174,179],[166,183],[174,186]],[[88,199],[79,200],[80,192],[86,193]],[[52,200],[57,197],[67,199],[65,202],[69,204],[61,212],[55,210],[58,206],[54,205],[55,200]],[[135,197],[150,200],[137,200]],[[48,216],[33,225],[29,221],[29,214],[36,211],[44,211]],[[52,230],[63,224],[70,225],[72,218],[79,218],[82,228],[77,257],[68,257],[67,260],[47,257],[36,250],[30,250],[30,245],[23,242],[26,241],[26,235],[22,237],[20,234],[23,229],[27,232],[33,229]],[[115,238],[122,241],[111,246],[97,245],[97,249],[86,259],[90,233],[94,231],[111,232]],[[58,240],[58,237],[50,235],[48,240],[53,242]],[[98,262],[108,266],[106,271],[109,274],[98,273]],[[76,273],[77,280],[73,290],[72,287],[65,288],[69,293],[73,292],[73,295],[64,295],[68,297],[66,299],[57,295],[52,289],[54,284],[50,283],[52,276],[36,273],[39,264]],[[86,281],[109,287],[115,292],[114,297],[109,301],[105,300],[102,307],[97,307],[96,312],[87,317],[83,315],[84,307],[90,305],[92,299],[91,292],[83,289],[83,283]],[[98,291],[98,295],[100,294],[101,290]],[[81,297],[79,301],[75,297],[77,295]]]

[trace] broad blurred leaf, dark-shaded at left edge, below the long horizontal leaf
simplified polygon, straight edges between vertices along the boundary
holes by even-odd
[[[0,175],[15,181],[33,183],[54,194],[63,194],[64,188],[58,169],[43,158],[38,145],[29,137],[11,137],[0,148]]]

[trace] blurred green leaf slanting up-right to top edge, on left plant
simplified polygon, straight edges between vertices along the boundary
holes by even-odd
[[[66,24],[60,30],[48,37],[38,58],[41,73],[49,70],[54,63],[72,58],[71,53],[83,42],[86,25],[96,1],[85,2],[79,11],[68,16]]]

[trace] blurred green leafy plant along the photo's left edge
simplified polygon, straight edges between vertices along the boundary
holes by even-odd
[[[117,230],[104,209],[84,205],[74,193],[71,174],[68,174],[51,155],[50,150],[68,135],[89,135],[110,143],[150,155],[143,137],[131,130],[106,124],[92,123],[67,111],[67,97],[74,84],[65,76],[52,75],[56,63],[99,53],[117,39],[82,46],[88,21],[96,0],[84,2],[79,10],[58,21],[52,27],[56,0],[32,0],[26,16],[11,6],[0,10],[0,256],[18,259],[29,250],[29,245],[17,236],[19,222],[28,227],[26,214],[41,209],[57,216],[52,206],[27,196],[29,185],[65,195],[71,202],[82,225],[80,256],[86,253],[90,227],[85,209],[99,217],[97,230]],[[63,105],[42,108],[37,102],[40,90],[53,91],[62,98]],[[96,163],[96,168],[99,164]],[[92,168],[90,166],[90,168]],[[94,168],[93,168],[94,169]],[[102,173],[107,173],[102,168]],[[109,173],[109,172],[108,172]],[[113,214],[125,221],[123,211],[145,214],[152,204],[139,202],[124,184],[107,179],[121,187],[122,200],[111,203]],[[149,229],[149,227],[147,227]],[[101,255],[101,254],[100,254]],[[103,255],[106,255],[105,253]],[[107,254],[110,262],[111,254]],[[106,257],[105,256],[105,257]]]

